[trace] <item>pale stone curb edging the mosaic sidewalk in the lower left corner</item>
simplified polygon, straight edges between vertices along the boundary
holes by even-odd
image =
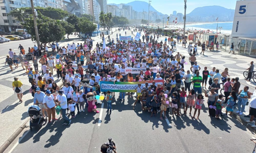
[[[0,147],[0,153],[3,153],[5,149],[9,147],[9,145],[17,138],[17,136],[25,129],[25,126],[29,119],[27,119],[18,129],[4,142],[4,144]]]

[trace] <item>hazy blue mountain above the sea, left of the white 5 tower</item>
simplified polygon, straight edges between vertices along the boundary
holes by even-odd
[[[204,6],[204,7],[197,7],[192,12],[187,14],[189,17],[229,17],[235,10],[227,9],[222,6]]]

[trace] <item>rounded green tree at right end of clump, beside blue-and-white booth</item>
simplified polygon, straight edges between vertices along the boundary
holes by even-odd
[[[84,34],[91,33],[97,28],[97,24],[89,21],[86,17],[79,18],[78,27]]]

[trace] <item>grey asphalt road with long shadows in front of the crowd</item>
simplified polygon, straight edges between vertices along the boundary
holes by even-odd
[[[185,65],[185,69],[188,68]],[[39,131],[35,128],[27,132],[11,152],[96,153],[100,152],[100,146],[108,142],[108,138],[115,142],[119,153],[251,152],[254,147],[250,141],[254,135],[244,125],[231,117],[219,121],[212,119],[208,117],[205,106],[200,120],[191,120],[188,115],[172,117],[171,113],[167,120],[160,120],[159,113],[157,117],[150,118],[148,112],[142,112],[140,104],[133,110],[135,97],[125,96],[125,101],[119,101],[119,93],[115,95],[111,114],[105,112],[107,105],[103,101],[104,104],[97,106],[101,111],[99,114],[86,110],[71,119],[69,126],[61,125],[60,118],[60,121],[46,124]],[[206,101],[207,98],[205,105]]]

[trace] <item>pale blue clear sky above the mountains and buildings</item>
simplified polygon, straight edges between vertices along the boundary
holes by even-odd
[[[108,0],[107,3],[129,3],[135,0]],[[148,0],[140,0],[148,3]],[[158,12],[163,14],[173,14],[173,11],[184,14],[184,1],[183,0],[151,0],[151,6],[154,7]],[[236,0],[187,0],[187,11],[186,14],[190,13],[197,7],[219,5],[228,9],[235,9]],[[214,11],[214,10],[212,10]]]

